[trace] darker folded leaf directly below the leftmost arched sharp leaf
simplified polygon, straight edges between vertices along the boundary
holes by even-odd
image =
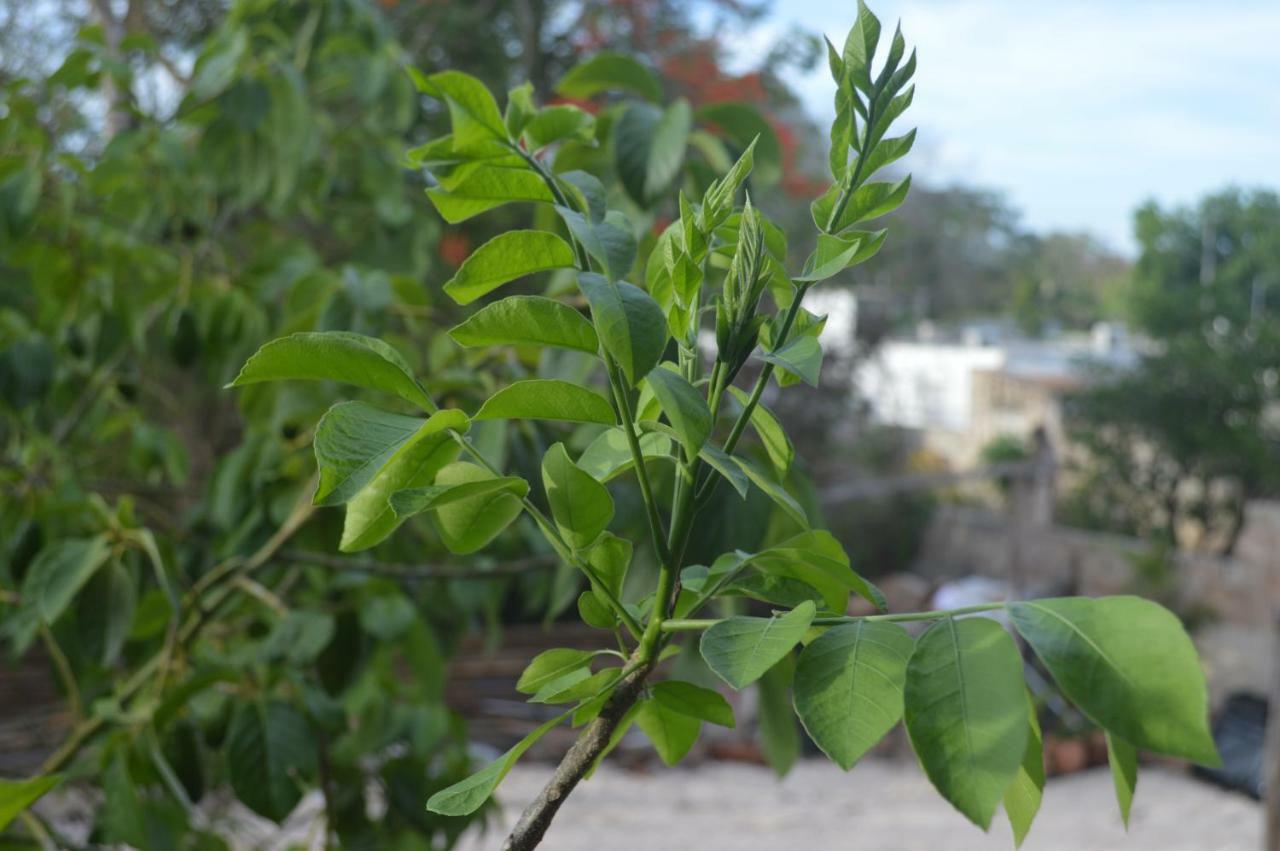
[[[315,504],[340,505],[355,497],[426,424],[364,402],[339,402],[329,408],[314,440],[320,467]]]

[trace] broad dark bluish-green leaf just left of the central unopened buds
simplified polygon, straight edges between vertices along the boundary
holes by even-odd
[[[577,285],[591,306],[595,333],[604,349],[635,386],[662,360],[667,317],[649,293],[632,284],[581,273]]]

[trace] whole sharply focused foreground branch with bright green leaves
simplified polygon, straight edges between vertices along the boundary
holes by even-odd
[[[444,284],[458,305],[484,303],[452,329],[467,348],[558,349],[593,380],[527,378],[498,389],[474,412],[442,407],[431,376],[413,374],[389,344],[349,333],[302,333],[262,347],[237,386],[334,380],[380,390],[415,413],[364,402],[335,404],[319,422],[316,503],[346,505],[344,552],[378,545],[410,517],[426,514],[444,544],[475,553],[520,517],[563,563],[580,571],[582,619],[621,650],[556,649],[532,659],[518,688],[563,712],[498,760],[430,796],[428,809],[468,815],[550,728],[581,732],[504,847],[539,845],[575,786],[636,726],[663,761],[680,761],[704,723],[733,726],[727,701],[691,682],[655,681],[659,662],[689,632],[727,686],[771,672],[790,678],[796,714],[837,764],[851,768],[904,720],[934,786],[987,828],[1004,804],[1020,841],[1039,805],[1039,731],[1006,610],[1062,691],[1108,731],[1116,777],[1134,777],[1135,750],[1212,763],[1206,688],[1178,621],[1132,598],[1059,599],[975,609],[891,614],[879,591],[850,567],[840,543],[813,529],[788,490],[794,450],[760,404],[771,381],[817,383],[823,317],[804,307],[809,289],[873,256],[886,230],[868,229],[906,197],[910,178],[876,179],[906,155],[915,132],[888,131],[910,106],[915,54],[901,29],[876,63],[881,24],[863,5],[842,49],[828,44],[836,82],[831,188],[813,202],[817,248],[799,274],[786,241],[749,197],[754,145],[698,192],[676,186],[694,116],[686,104],[634,109],[613,101],[608,122],[571,105],[538,106],[513,90],[504,110],[476,79],[415,74],[447,109],[452,133],[410,154],[428,195],[451,224],[499,206],[554,212],[543,229],[511,230],[480,246]],[[617,55],[576,68],[561,86],[657,99],[660,81]],[[622,192],[591,171],[612,146]],[[637,205],[668,198],[678,212],[657,239],[641,241]],[[741,198],[741,202],[740,202]],[[646,248],[641,262],[641,247]],[[544,271],[572,282],[586,311],[559,297],[492,297]],[[643,287],[627,279],[640,276]],[[713,331],[714,352],[705,352]],[[735,380],[748,361],[763,369],[750,389]],[[727,416],[732,404],[736,415]],[[468,436],[490,421],[550,424],[562,440],[541,458],[540,481],[504,472]],[[758,447],[744,448],[748,431]],[[617,534],[613,493],[634,481],[646,536]],[[791,532],[758,552],[731,550],[710,566],[686,559],[703,532],[712,493],[724,481],[746,499],[762,493]],[[645,537],[648,540],[645,540]],[[628,568],[637,548],[657,563],[636,594]],[[858,595],[881,612],[849,617]],[[698,618],[707,607],[748,598],[771,617]],[[918,636],[901,622],[922,621]],[[603,637],[602,635],[602,637]],[[797,653],[797,648],[800,648]],[[796,655],[795,663],[788,659]],[[1121,783],[1123,786],[1123,783]],[[1119,788],[1128,807],[1132,786]]]

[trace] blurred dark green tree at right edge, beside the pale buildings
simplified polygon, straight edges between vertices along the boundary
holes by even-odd
[[[1230,549],[1280,488],[1280,202],[1226,191],[1137,214],[1134,322],[1155,351],[1069,401],[1085,452],[1073,522]]]

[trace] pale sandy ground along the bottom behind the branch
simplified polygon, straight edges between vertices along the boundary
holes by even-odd
[[[503,781],[502,819],[463,842],[502,842],[549,768],[521,767]],[[1262,810],[1240,795],[1181,774],[1144,769],[1126,834],[1107,769],[1051,779],[1024,851],[1256,851]],[[547,834],[547,851],[1009,851],[1009,823],[984,834],[940,799],[910,763],[868,760],[845,774],[805,761],[782,782],[763,768],[705,764],[652,774],[602,769],[579,787]]]

